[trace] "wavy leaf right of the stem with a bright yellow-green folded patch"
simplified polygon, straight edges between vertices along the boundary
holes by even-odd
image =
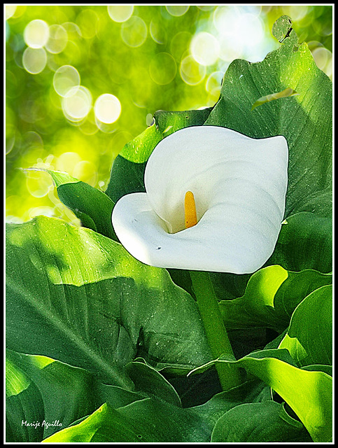
[[[300,302],[332,283],[332,275],[314,270],[290,272],[272,265],[255,272],[242,297],[219,302],[226,328],[268,327],[282,332]]]

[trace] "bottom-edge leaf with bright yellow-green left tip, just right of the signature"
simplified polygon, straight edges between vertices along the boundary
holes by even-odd
[[[208,442],[210,433],[197,414],[145,398],[118,409],[105,404],[44,442]]]

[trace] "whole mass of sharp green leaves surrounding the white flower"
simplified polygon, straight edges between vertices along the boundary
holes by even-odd
[[[273,31],[279,48],[234,60],[215,106],[158,111],[115,159],[106,193],[43,173],[80,227],[8,223],[8,442],[332,440],[332,83],[288,17]],[[297,95],[252,109],[287,88]],[[290,150],[272,257],[252,275],[210,276],[236,360],[212,358],[186,273],[143,265],[109,225],[115,202],[144,190],[161,139],[211,124],[282,134]],[[220,391],[217,363],[241,367],[241,384]]]

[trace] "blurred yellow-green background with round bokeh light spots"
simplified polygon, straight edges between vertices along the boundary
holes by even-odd
[[[106,190],[158,109],[213,106],[233,59],[258,62],[289,15],[332,78],[332,6],[15,6],[6,10],[6,221],[78,225],[47,168]]]

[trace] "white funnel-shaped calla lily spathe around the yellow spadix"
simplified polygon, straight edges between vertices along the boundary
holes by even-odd
[[[186,127],[157,144],[146,193],[121,197],[116,235],[147,265],[245,274],[267,261],[286,202],[288,144],[217,126]],[[197,225],[185,229],[185,193],[195,195]]]

